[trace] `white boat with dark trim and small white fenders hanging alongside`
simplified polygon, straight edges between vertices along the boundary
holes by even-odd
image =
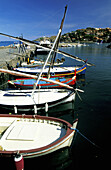
[[[17,112],[54,107],[75,100],[75,91],[67,89],[36,89],[0,91],[0,107]]]

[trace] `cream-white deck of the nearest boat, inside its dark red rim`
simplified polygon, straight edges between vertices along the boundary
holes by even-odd
[[[44,147],[66,134],[66,130],[56,122],[45,120],[37,122],[37,120],[30,121],[16,118],[12,120],[6,119],[4,123],[0,122],[0,131],[0,148],[6,151]]]

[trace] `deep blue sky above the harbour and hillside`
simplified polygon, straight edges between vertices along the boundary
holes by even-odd
[[[0,32],[34,40],[57,35],[65,5],[62,34],[81,28],[111,28],[111,0],[2,0]],[[0,36],[0,41],[11,40]]]

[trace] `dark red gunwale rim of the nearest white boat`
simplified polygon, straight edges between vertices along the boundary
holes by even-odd
[[[41,120],[50,120],[50,121],[55,121],[55,122],[59,122],[59,123],[63,123],[63,125],[65,125],[67,127],[66,130],[66,134],[60,138],[59,140],[57,140],[56,142],[53,142],[51,144],[48,144],[46,146],[40,147],[40,148],[35,148],[35,149],[28,149],[28,150],[19,150],[19,153],[22,154],[23,156],[27,157],[27,156],[33,156],[33,155],[37,155],[39,153],[37,152],[45,152],[45,150],[47,149],[51,149],[52,147],[56,147],[56,145],[60,144],[62,141],[63,143],[65,142],[64,140],[68,140],[67,138],[70,138],[70,135],[72,132],[74,132],[74,130],[71,129],[72,125],[62,119],[59,118],[55,118],[55,117],[46,117],[46,116],[40,116],[40,115],[9,115],[9,114],[1,114],[1,117],[13,117],[13,118],[27,118],[27,119],[41,119]],[[73,123],[77,122],[78,119],[76,119]],[[61,145],[61,144],[60,144]],[[16,155],[18,153],[18,150],[14,150],[14,151],[2,151],[0,150],[0,156],[1,157],[12,157],[13,155]]]

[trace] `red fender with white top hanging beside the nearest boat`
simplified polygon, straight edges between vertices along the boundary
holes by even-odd
[[[16,170],[24,170],[24,160],[22,155],[17,154],[14,157],[14,162],[15,162]]]

